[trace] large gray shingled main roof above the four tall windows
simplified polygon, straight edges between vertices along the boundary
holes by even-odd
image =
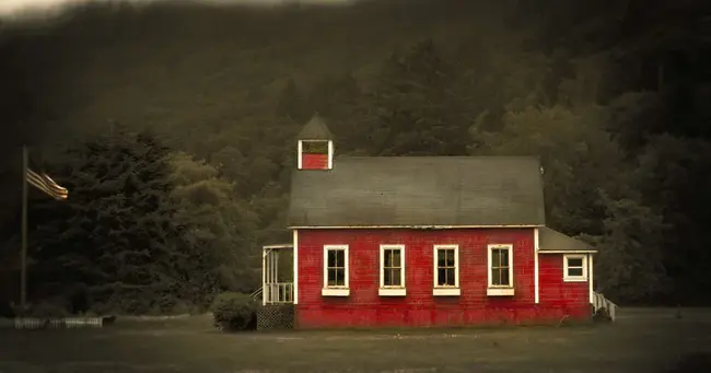
[[[528,156],[338,156],[294,171],[289,226],[545,225]]]

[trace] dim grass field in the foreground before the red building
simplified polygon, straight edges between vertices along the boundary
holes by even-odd
[[[0,330],[0,373],[711,372],[711,310],[610,325],[225,335],[209,318]],[[696,366],[691,366],[696,365]]]

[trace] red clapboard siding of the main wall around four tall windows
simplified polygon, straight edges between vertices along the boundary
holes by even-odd
[[[534,229],[300,230],[298,237],[300,328],[558,320],[568,312],[556,302],[535,304]],[[323,296],[323,246],[339,244],[349,245],[350,296]],[[381,244],[405,245],[406,296],[378,295]],[[461,296],[432,295],[438,244],[459,245]],[[513,244],[515,295],[487,295],[488,244]]]

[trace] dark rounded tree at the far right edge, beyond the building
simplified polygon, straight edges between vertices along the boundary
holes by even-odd
[[[669,135],[650,139],[639,156],[634,187],[668,226],[658,245],[674,279],[673,301],[704,304],[711,278],[699,263],[711,261],[711,238],[699,224],[711,220],[711,143]],[[669,300],[672,301],[672,300]]]

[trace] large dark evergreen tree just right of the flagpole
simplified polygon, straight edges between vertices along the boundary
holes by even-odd
[[[71,198],[31,233],[37,282],[74,284],[116,311],[173,306],[184,255],[167,200],[168,150],[150,133],[119,130],[70,153]]]

